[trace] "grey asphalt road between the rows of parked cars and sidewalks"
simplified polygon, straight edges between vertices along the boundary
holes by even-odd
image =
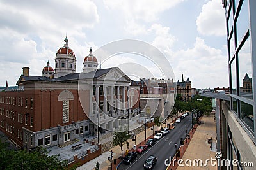
[[[192,125],[191,125],[191,116],[192,114],[189,114],[186,118],[184,118],[180,123],[175,123],[175,128],[170,131],[169,134],[166,134],[166,136],[163,136],[157,143],[152,146],[151,148],[148,148],[147,152],[142,153],[141,155],[138,154],[137,159],[132,162],[130,165],[121,164],[120,167],[118,167],[118,170],[124,170],[124,169],[143,169],[143,164],[148,159],[150,155],[154,155],[157,157],[157,164],[154,166],[154,169],[166,169],[166,165],[164,164],[164,161],[166,159],[169,160],[169,157],[171,157],[170,160],[175,156],[175,143],[177,143],[177,148],[180,147],[180,138],[185,139],[186,138],[186,130],[188,132],[190,131]],[[186,141],[185,141],[186,145]],[[168,163],[168,162],[167,162]]]

